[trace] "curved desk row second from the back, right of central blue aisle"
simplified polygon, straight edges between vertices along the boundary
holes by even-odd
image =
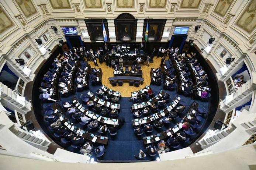
[[[151,123],[152,121],[159,119],[163,116],[166,116],[167,114],[170,113],[170,111],[177,106],[177,104],[180,102],[180,97],[176,96],[176,98],[170,103],[169,106],[166,106],[165,109],[162,109],[158,111],[157,113],[152,114],[151,116],[148,117],[143,117],[143,118],[135,118],[132,120],[132,125],[137,126],[145,123]]]

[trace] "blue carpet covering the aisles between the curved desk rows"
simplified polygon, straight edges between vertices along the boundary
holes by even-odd
[[[168,65],[169,62],[166,62],[166,65]],[[99,89],[101,85],[97,86],[92,86],[91,83],[89,83],[89,88],[90,91],[92,91],[94,94],[96,94],[96,90]],[[109,87],[111,88],[111,87]],[[151,85],[151,88],[153,91],[155,91],[155,94],[159,93],[160,90],[163,89],[163,82],[161,85]],[[79,99],[80,95],[82,93],[87,93],[89,90],[84,90],[82,92],[75,92],[75,96],[77,99]],[[169,102],[172,102],[172,100],[175,98],[177,95],[177,89],[174,91],[168,91],[166,89],[163,89],[163,91],[168,92],[171,95],[171,99]],[[191,103],[194,102],[194,100],[191,99],[191,97],[186,97],[183,95],[178,94],[181,97],[181,101],[183,103],[186,103],[186,106],[189,106]],[[59,104],[62,104],[64,102],[69,102],[72,100],[73,95],[70,95],[69,97],[61,97]],[[202,102],[201,100],[195,100],[198,104],[199,107],[204,107],[205,109],[208,109],[209,103],[208,102]],[[82,101],[80,101],[82,103]],[[106,160],[135,160],[135,157],[133,155],[138,155],[139,150],[142,149],[145,153],[145,146],[143,145],[142,142],[142,137],[145,137],[147,135],[153,135],[158,132],[162,132],[164,130],[167,130],[168,128],[172,127],[174,124],[168,124],[162,127],[159,130],[154,129],[153,132],[150,134],[144,133],[141,137],[137,137],[134,133],[133,127],[132,127],[132,119],[134,119],[133,114],[131,113],[131,105],[132,102],[129,101],[129,98],[121,98],[119,101],[121,105],[120,113],[118,117],[124,117],[125,118],[125,123],[124,125],[118,130],[118,134],[115,137],[110,137],[110,135],[106,134],[105,136],[109,137],[109,142],[108,145],[105,146],[106,152],[105,154],[100,158],[100,159],[106,159]],[[43,103],[43,106],[47,105],[47,103]],[[86,105],[84,107],[88,108]],[[186,107],[186,110],[188,107]],[[69,115],[67,115],[69,116]],[[72,121],[72,119],[70,119]],[[202,122],[204,124],[204,120]],[[89,131],[89,129],[86,127],[84,130]],[[98,132],[94,132],[97,134]],[[192,141],[193,139],[191,139]],[[98,144],[94,144],[94,147],[97,146]],[[185,146],[184,146],[185,147]],[[67,148],[68,150],[72,152],[79,153],[79,150],[73,150],[70,146]],[[94,156],[92,156],[94,157]],[[145,159],[147,160],[155,160],[157,156],[151,157],[147,156]],[[95,158],[97,159],[97,158]]]

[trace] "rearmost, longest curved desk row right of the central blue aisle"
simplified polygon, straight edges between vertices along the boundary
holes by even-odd
[[[185,121],[190,120],[191,117],[194,116],[194,114],[196,113],[197,107],[198,107],[198,103],[196,103],[196,102],[192,103],[190,105],[190,109],[188,110],[187,114],[181,119],[181,121],[179,123],[177,123],[173,127],[169,128],[163,132],[160,132],[158,134],[143,137],[142,140],[143,140],[144,145],[160,141],[162,139],[169,137],[170,135],[175,134],[177,131],[179,131],[182,128],[182,124]]]

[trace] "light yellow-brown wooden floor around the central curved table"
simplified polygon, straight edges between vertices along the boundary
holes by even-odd
[[[144,82],[142,85],[139,85],[139,87],[135,86],[129,86],[129,83],[124,83],[122,86],[112,86],[110,84],[110,81],[108,80],[109,77],[113,77],[113,71],[114,69],[111,67],[108,67],[105,63],[100,64],[100,62],[97,59],[97,63],[99,67],[96,67],[92,61],[89,61],[89,64],[91,67],[95,68],[101,68],[103,75],[102,75],[102,84],[107,86],[110,89],[113,89],[114,91],[119,91],[122,94],[122,97],[130,97],[131,92],[138,91],[139,89],[145,87],[146,85],[150,85],[151,78],[150,78],[150,70],[151,68],[158,68],[160,67],[161,58],[158,59],[154,57],[154,63],[149,63],[149,67],[146,65],[146,63],[141,67],[142,70],[142,77],[144,78]],[[124,67],[125,70],[125,67]],[[129,70],[131,70],[131,67],[129,67]]]

